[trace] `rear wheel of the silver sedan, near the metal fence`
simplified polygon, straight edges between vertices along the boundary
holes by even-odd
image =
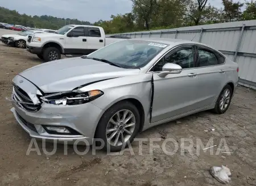
[[[225,94],[228,94],[228,96],[225,96]],[[226,112],[226,110],[228,110],[228,108],[229,108],[230,102],[232,100],[232,95],[233,95],[233,90],[232,90],[231,86],[226,85],[222,89],[220,95],[218,96],[218,99],[215,104],[215,108],[213,109],[214,113],[224,114]],[[228,97],[229,97],[229,99],[228,99]],[[224,101],[223,106],[221,104],[222,101]]]

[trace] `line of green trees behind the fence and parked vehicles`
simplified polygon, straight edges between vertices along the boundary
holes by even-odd
[[[222,8],[214,7],[216,0],[130,0],[133,10],[127,14],[112,15],[110,20],[93,23],[104,28],[106,34],[158,30],[256,19],[256,0],[222,0]],[[243,10],[242,11],[242,7]],[[91,24],[77,19],[53,16],[29,16],[0,7],[0,22],[23,26],[58,29],[65,24]]]

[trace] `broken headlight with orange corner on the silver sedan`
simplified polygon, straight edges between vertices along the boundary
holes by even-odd
[[[90,90],[88,92],[60,92],[41,97],[43,102],[54,105],[80,105],[93,101],[102,96],[101,90]]]

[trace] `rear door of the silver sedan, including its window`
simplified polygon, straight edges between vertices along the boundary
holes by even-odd
[[[214,104],[214,100],[226,84],[225,57],[204,46],[196,47],[199,55],[197,76],[199,77],[200,106]]]

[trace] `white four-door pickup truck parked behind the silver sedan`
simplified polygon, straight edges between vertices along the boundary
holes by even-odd
[[[127,37],[105,37],[102,27],[69,24],[55,34],[28,35],[27,51],[35,53],[44,61],[53,61],[63,55],[88,55],[108,44]]]

